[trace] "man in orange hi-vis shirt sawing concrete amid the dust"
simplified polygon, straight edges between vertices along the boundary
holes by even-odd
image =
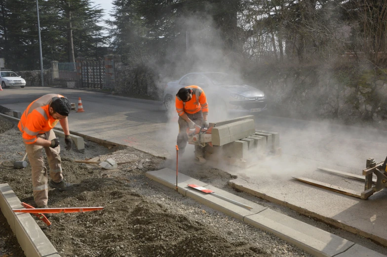
[[[195,125],[208,128],[208,104],[203,89],[194,85],[180,88],[176,94],[175,104],[179,114],[177,146],[181,155],[187,146],[187,128],[194,129]],[[204,148],[195,144],[195,158],[200,163],[206,162],[203,155]]]

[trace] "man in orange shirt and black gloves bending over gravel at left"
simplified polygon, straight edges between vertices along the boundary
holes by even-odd
[[[52,131],[59,121],[65,133],[65,148],[70,150],[73,144],[67,120],[70,110],[69,100],[62,95],[44,95],[27,107],[18,124],[32,167],[34,200],[38,208],[47,208],[48,202],[48,176],[44,166],[43,148],[50,167],[51,180],[48,185],[59,189],[68,189],[72,186],[63,179],[59,139]]]

